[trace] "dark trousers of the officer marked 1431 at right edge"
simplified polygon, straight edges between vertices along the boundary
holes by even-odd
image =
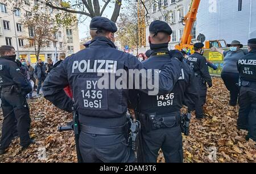
[[[249,138],[256,141],[256,85],[241,87],[238,129],[249,131]]]

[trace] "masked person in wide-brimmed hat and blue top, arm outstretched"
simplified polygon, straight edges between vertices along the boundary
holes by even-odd
[[[239,94],[239,87],[237,86],[239,81],[237,61],[248,52],[241,49],[243,48],[243,45],[237,40],[233,40],[231,44],[228,44],[228,46],[229,50],[227,51],[216,47],[212,47],[212,50],[224,55],[224,65],[221,72],[221,78],[230,92],[229,105],[235,107],[237,105]]]

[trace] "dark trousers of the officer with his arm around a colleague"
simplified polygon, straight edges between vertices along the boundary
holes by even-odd
[[[125,135],[96,135],[81,132],[79,149],[84,163],[134,163],[135,154]]]

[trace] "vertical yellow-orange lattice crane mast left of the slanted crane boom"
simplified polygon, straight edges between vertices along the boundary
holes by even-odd
[[[138,0],[138,46],[146,46],[145,9],[141,0]]]

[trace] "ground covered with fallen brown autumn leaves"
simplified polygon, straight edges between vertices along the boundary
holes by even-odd
[[[183,137],[184,162],[256,162],[256,146],[246,141],[246,131],[238,131],[238,107],[229,107],[229,92],[219,78],[209,89],[205,113],[207,118],[191,121],[191,135]],[[14,139],[0,162],[77,162],[72,131],[59,133],[57,127],[72,120],[42,97],[30,102],[31,137],[36,144],[21,151]],[[2,116],[0,122],[2,123]],[[164,162],[160,153],[159,162]]]

